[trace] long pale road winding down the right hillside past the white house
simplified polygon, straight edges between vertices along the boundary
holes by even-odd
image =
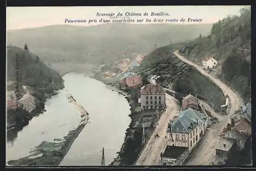
[[[199,144],[197,151],[191,154],[190,159],[188,160],[186,165],[210,165],[212,160],[215,157],[215,145],[218,143],[218,137],[220,133],[223,131],[224,127],[229,123],[229,117],[235,111],[239,109],[239,106],[243,104],[242,98],[235,92],[233,92],[228,86],[226,86],[222,81],[218,78],[208,74],[203,70],[203,68],[196,63],[188,60],[181,54],[179,54],[178,50],[173,53],[180,60],[187,63],[190,66],[193,66],[197,69],[201,74],[206,77],[209,77],[212,81],[214,81],[218,87],[220,87],[229,97],[230,100],[230,110],[227,116],[222,117],[222,121],[214,126],[210,127],[209,134],[202,140]]]

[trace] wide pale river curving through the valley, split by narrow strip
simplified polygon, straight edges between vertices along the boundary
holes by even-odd
[[[82,74],[68,73],[63,79],[65,88],[48,99],[47,111],[34,117],[13,141],[7,142],[7,161],[26,157],[42,141],[61,139],[78,126],[79,112],[68,103],[66,90],[88,111],[90,119],[59,165],[101,165],[102,147],[105,165],[117,156],[131,122],[127,100]]]

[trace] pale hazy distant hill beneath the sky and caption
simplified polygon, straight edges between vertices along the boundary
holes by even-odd
[[[90,27],[48,26],[11,30],[8,45],[28,44],[43,61],[56,63],[113,63],[133,53],[148,53],[172,42],[186,41],[210,33],[212,24],[131,25],[105,24]]]

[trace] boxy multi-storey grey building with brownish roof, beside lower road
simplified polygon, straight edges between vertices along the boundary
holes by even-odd
[[[165,90],[159,84],[148,84],[140,90],[140,106],[144,110],[164,108]]]

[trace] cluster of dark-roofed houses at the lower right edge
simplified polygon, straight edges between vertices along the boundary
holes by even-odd
[[[228,123],[221,133],[222,143],[216,147],[216,155],[224,162],[231,151],[242,151],[251,136],[251,103],[240,106],[230,120],[231,123]]]

